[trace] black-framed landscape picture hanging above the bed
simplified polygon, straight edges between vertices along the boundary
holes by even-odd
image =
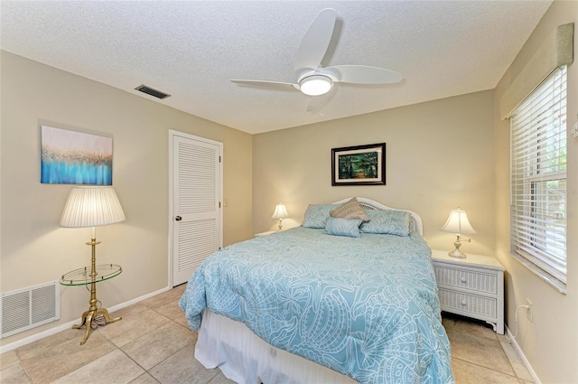
[[[386,184],[386,143],[331,149],[331,185],[379,184]]]

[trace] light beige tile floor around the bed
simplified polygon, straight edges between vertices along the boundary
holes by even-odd
[[[67,330],[0,355],[0,384],[223,384],[219,369],[207,370],[193,357],[197,334],[177,302],[177,286],[111,314],[122,316],[90,332]],[[484,323],[446,315],[452,369],[458,384],[531,383],[508,340]]]

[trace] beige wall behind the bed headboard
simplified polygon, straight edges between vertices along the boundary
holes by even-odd
[[[387,185],[331,186],[331,148],[387,143]],[[418,212],[432,248],[452,249],[439,229],[450,211],[468,212],[478,231],[466,253],[494,249],[493,97],[491,91],[299,126],[253,138],[253,230],[274,230],[284,202],[298,226],[310,203],[368,197]]]

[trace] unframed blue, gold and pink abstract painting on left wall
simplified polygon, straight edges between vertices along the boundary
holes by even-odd
[[[41,126],[41,183],[112,185],[112,138]]]

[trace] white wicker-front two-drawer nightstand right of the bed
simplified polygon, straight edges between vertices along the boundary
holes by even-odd
[[[490,323],[504,334],[504,267],[491,256],[452,258],[432,249],[442,311]]]

